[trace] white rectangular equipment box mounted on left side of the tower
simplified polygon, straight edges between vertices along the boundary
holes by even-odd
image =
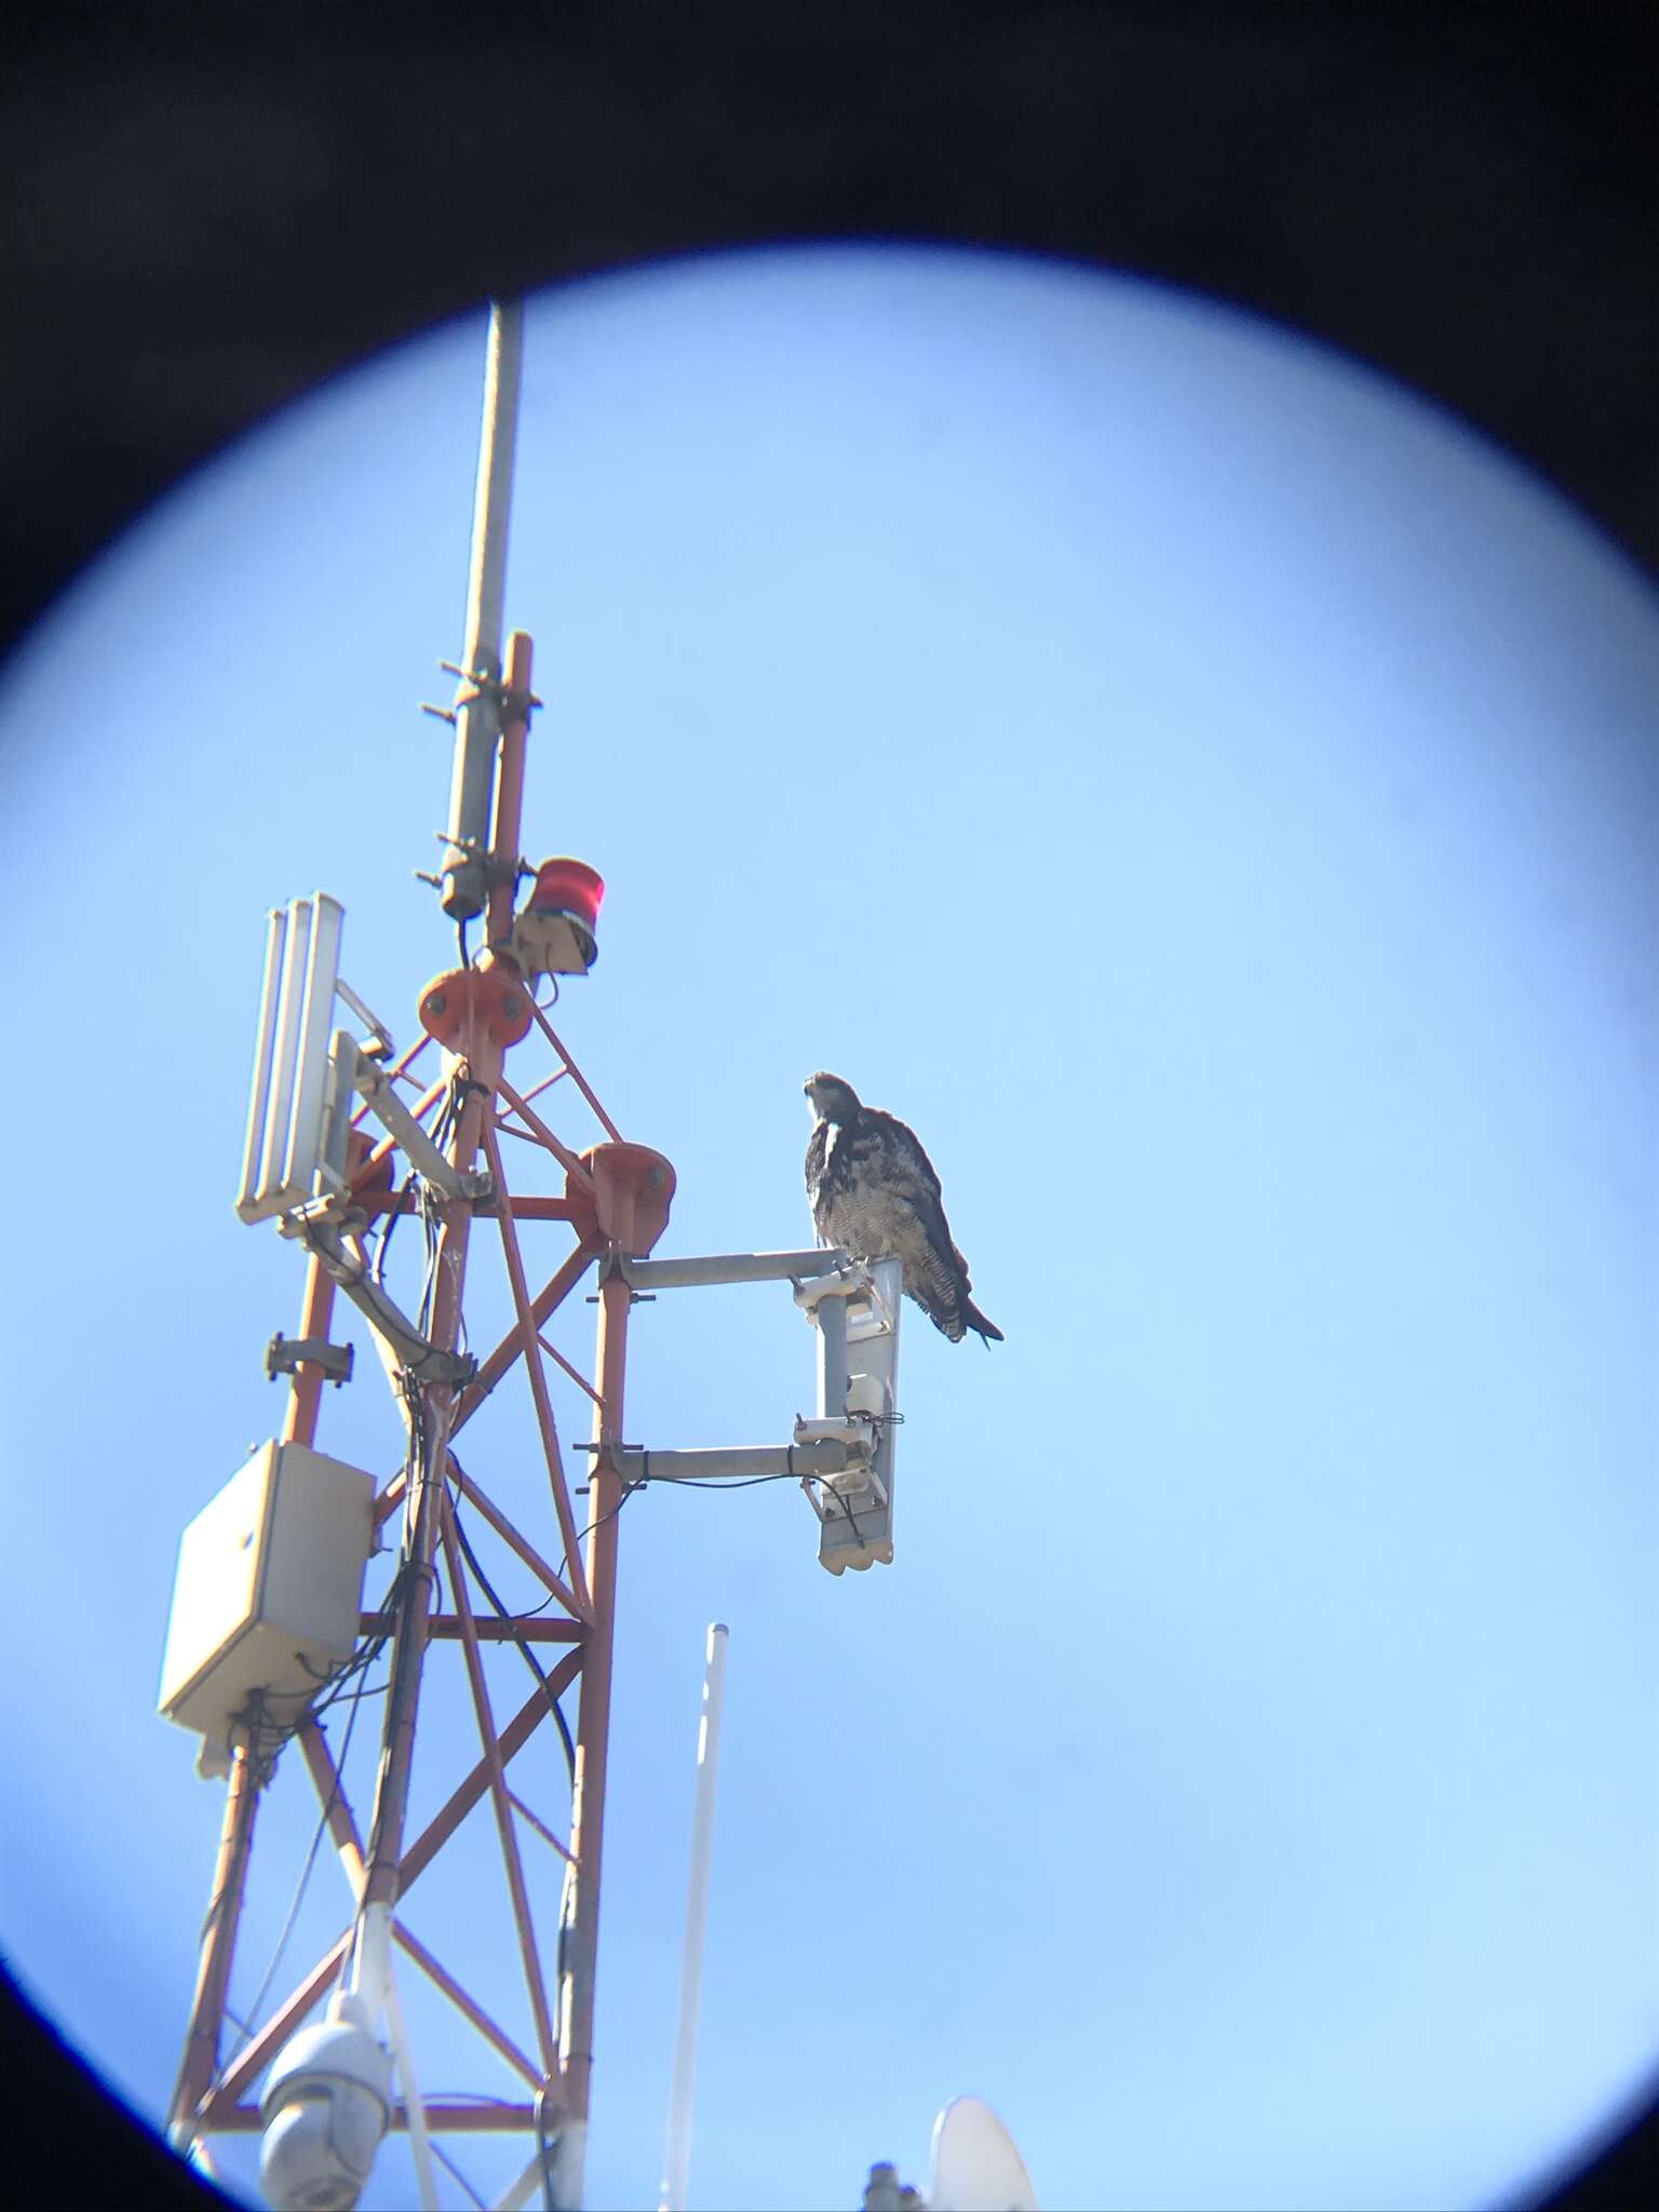
[[[254,1690],[299,1721],[356,1650],[374,1548],[374,1475],[307,1444],[261,1444],[179,1542],[159,1710],[223,1772]]]

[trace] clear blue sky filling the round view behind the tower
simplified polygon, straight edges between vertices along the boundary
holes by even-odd
[[[49,1062],[11,1115],[0,1942],[150,2115],[219,1820],[153,1717],[173,1555],[299,1312],[230,1210],[263,911],[334,891],[414,1033],[480,363],[482,316],[250,436],[0,677]],[[695,2205],[920,2181],[960,2090],[1053,2212],[1513,2190],[1659,2055],[1650,584],[1305,341],[814,248],[533,305],[509,619],[526,849],[608,883],[560,1026],[679,1170],[661,1250],[807,1241],[830,1066],[922,1135],[1006,1334],[907,1310],[891,1571],[823,1575],[783,1484],[628,1506],[591,2201],[655,2201],[717,1617]],[[361,1354],[319,1442],[389,1471]],[[630,1440],[781,1440],[810,1389],[787,1292],[637,1310]],[[533,1526],[531,1436],[491,1407],[469,1464]],[[431,1677],[418,1798],[462,1699]],[[520,1787],[564,1825],[551,1739]],[[288,1759],[241,2004],[312,1827]],[[526,2035],[465,1834],[409,1918]],[[323,1854],[279,1991],[343,1911]],[[425,2086],[498,2088],[405,2002]]]

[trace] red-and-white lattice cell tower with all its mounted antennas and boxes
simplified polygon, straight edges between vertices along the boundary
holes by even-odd
[[[566,1051],[538,993],[544,978],[586,975],[597,953],[599,876],[582,860],[520,856],[531,639],[502,641],[507,515],[513,469],[522,307],[491,310],[484,427],[473,513],[465,653],[445,664],[458,697],[445,860],[429,878],[460,936],[460,960],[420,991],[420,1035],[392,1033],[341,975],[343,911],[325,894],[272,914],[243,1179],[243,1221],[272,1221],[303,1254],[299,1334],[268,1347],[288,1376],[281,1436],[210,1500],[184,1535],[168,1628],[161,1710],[201,1736],[199,1772],[226,1778],[226,1805],[190,2022],[168,2135],[197,2152],[219,2135],[261,2135],[261,2183],[276,2205],[349,2208],[387,2128],[407,2130],[422,2205],[436,2205],[434,2148],[447,2132],[520,2135],[524,2166],[502,2212],[582,2203],[599,1960],[606,1752],[617,1588],[617,1515],[648,1480],[794,1475],[816,1513],[832,1573],[891,1562],[900,1272],[836,1250],[653,1259],[668,1225],[675,1170],[630,1144]],[[436,712],[436,710],[434,710]],[[522,885],[529,894],[520,900]],[[482,945],[467,927],[482,916]],[[336,1009],[354,1024],[336,1026]],[[509,1055],[526,1046],[529,1073]],[[422,1066],[422,1057],[427,1064]],[[557,1086],[557,1091],[555,1091]],[[582,1124],[557,1135],[555,1099]],[[511,1144],[507,1141],[511,1139]],[[513,1152],[513,1175],[507,1155]],[[387,1250],[403,1217],[422,1254],[416,1310],[389,1287]],[[544,1276],[526,1225],[564,1243]],[[544,1234],[540,1228],[535,1234]],[[403,1256],[411,1237],[405,1232]],[[465,1307],[478,1243],[498,1245],[511,1325],[482,1356]],[[553,1343],[555,1316],[597,1276],[591,1367]],[[785,1444],[644,1451],[624,1444],[628,1314],[677,1285],[792,1283],[816,1332],[818,1402]],[[330,1338],[336,1298],[367,1321],[405,1433],[385,1480],[319,1449],[323,1385],[352,1374]],[[535,1482],[524,1453],[498,1475],[462,1431],[513,1374],[524,1378]],[[586,1402],[586,1513],[573,1498],[555,1420],[553,1374]],[[500,1400],[495,1400],[500,1402]],[[511,1506],[511,1509],[509,1509]],[[484,1533],[489,1531],[489,1533]],[[538,1593],[511,1610],[480,1557]],[[557,1564],[551,1564],[557,1559]],[[365,1599],[369,1577],[380,1590]],[[438,1590],[447,1593],[440,1601]],[[535,1677],[498,1717],[504,1646]],[[380,1763],[367,1823],[345,1785],[345,1739],[365,1670],[385,1661]],[[411,1820],[411,1774],[429,1666],[460,1663],[478,1730],[436,1812]],[[560,1699],[577,1692],[571,1730]],[[372,1710],[372,1708],[369,1708]],[[513,1790],[511,1765],[546,1723],[571,1765],[568,1840]],[[226,2048],[230,1969],[252,1871],[261,1790],[299,1756],[349,1880],[338,1938],[263,2017]],[[431,1783],[425,1756],[422,1783]],[[409,1913],[418,1882],[489,1803],[529,2022],[515,2037],[473,1958],[440,1955]],[[526,1845],[540,1856],[526,1863]],[[549,1849],[555,1858],[549,1858]],[[546,1869],[555,1871],[549,1874]],[[478,1882],[478,1913],[493,1909]],[[398,1971],[416,1969],[478,2035],[480,2062],[513,2093],[425,2097],[405,2028]],[[529,2042],[529,2048],[524,2046]],[[263,2084],[263,2088],[261,2088]]]

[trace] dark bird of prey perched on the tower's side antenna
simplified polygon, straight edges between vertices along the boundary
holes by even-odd
[[[951,1243],[933,1161],[916,1133],[878,1106],[860,1106],[838,1075],[814,1075],[807,1141],[807,1203],[825,1243],[854,1259],[896,1259],[905,1290],[960,1345],[969,1329],[984,1343],[1002,1329],[969,1296],[967,1261]]]

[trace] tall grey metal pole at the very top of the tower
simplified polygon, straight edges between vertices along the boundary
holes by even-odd
[[[524,303],[491,301],[484,361],[484,425],[478,440],[473,551],[467,575],[467,670],[456,699],[456,770],[449,785],[449,854],[442,865],[445,914],[469,922],[489,896],[489,807],[502,734],[502,608],[507,599],[507,518],[513,504],[518,387],[524,354]]]

